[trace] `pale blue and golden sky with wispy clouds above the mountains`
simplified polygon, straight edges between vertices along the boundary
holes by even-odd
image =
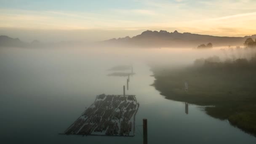
[[[0,0],[0,35],[98,41],[149,30],[256,34],[256,0]]]

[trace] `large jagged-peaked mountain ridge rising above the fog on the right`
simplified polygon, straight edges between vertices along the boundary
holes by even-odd
[[[212,43],[213,46],[237,46],[243,45],[248,37],[256,38],[256,35],[245,37],[218,37],[211,35],[198,35],[189,32],[167,32],[164,30],[147,30],[134,37],[124,37],[102,41],[101,44],[112,46],[139,46],[139,47],[197,47],[203,43]]]

